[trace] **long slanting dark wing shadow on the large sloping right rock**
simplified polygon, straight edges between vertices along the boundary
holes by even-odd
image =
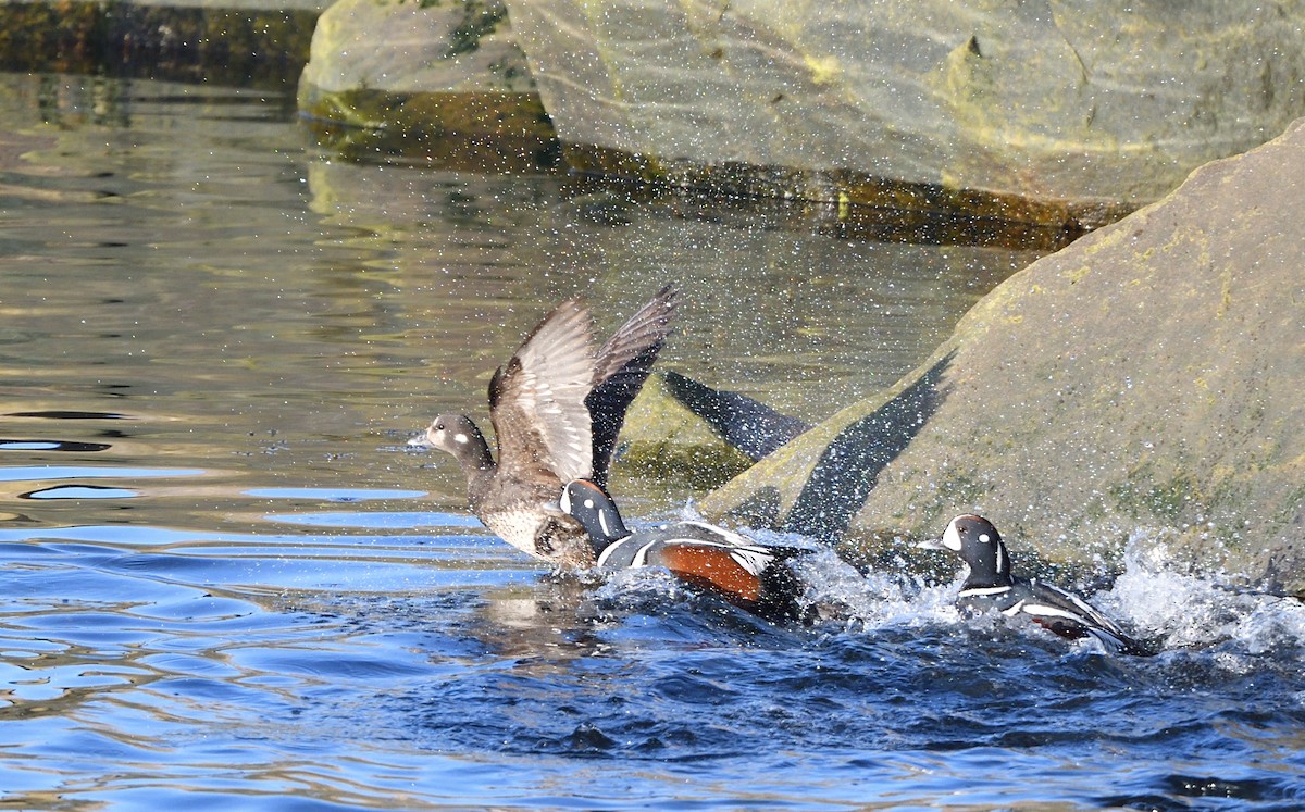
[[[780,530],[827,542],[842,538],[880,471],[906,450],[942,402],[945,393],[937,384],[949,363],[950,354],[874,414],[839,432],[825,448]]]

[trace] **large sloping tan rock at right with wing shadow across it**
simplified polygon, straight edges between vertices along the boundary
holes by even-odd
[[[1019,272],[702,508],[870,554],[976,510],[1052,561],[1131,535],[1305,595],[1301,211],[1305,120]]]

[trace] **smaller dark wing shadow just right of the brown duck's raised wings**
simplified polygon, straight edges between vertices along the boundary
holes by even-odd
[[[698,415],[722,440],[753,462],[784,445],[810,426],[737,392],[722,392],[685,377],[663,373],[666,390]]]

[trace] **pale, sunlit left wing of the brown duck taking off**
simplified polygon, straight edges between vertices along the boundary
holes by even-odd
[[[562,302],[526,337],[489,381],[499,467],[543,466],[562,482],[594,467],[585,397],[595,373],[594,324],[578,299]]]

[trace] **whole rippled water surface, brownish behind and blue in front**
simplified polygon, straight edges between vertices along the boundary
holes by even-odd
[[[1094,599],[1167,646],[1117,658],[820,555],[838,619],[775,628],[551,577],[405,448],[577,291],[683,281],[667,362],[816,420],[1031,252],[339,164],[253,91],[0,114],[0,808],[1305,808],[1297,602],[1134,556]]]

